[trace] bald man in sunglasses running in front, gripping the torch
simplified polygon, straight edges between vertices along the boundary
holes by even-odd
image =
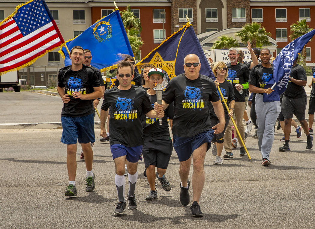
[[[213,80],[199,74],[200,60],[196,54],[184,58],[185,73],[177,75],[167,85],[162,104],[155,103],[157,112],[165,110],[174,102],[173,139],[174,149],[180,161],[180,202],[186,206],[190,202],[188,180],[191,162],[192,174],[192,216],[202,217],[199,199],[204,184],[203,162],[211,146],[213,134],[224,129],[224,110]],[[209,102],[220,122],[211,128]],[[215,130],[215,131],[213,131]]]

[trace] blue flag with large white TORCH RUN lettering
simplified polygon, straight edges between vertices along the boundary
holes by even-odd
[[[281,50],[276,59],[273,61],[273,78],[264,87],[269,88],[276,83],[273,88],[275,91],[269,95],[264,93],[263,102],[279,101],[279,95],[287,89],[289,75],[294,60],[298,57],[303,47],[314,35],[315,30],[312,30],[303,36],[296,38]]]

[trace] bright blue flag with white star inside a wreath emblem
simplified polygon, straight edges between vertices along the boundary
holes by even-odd
[[[121,54],[134,56],[119,10],[101,18],[79,36],[67,41],[66,45],[69,49],[79,45],[91,50],[91,65],[101,71],[115,69],[123,59]],[[62,47],[59,52],[65,59],[65,66],[71,65],[66,48]]]

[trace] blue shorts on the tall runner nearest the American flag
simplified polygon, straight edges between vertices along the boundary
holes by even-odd
[[[94,117],[89,114],[82,117],[62,116],[62,136],[60,142],[72,145],[95,142]]]

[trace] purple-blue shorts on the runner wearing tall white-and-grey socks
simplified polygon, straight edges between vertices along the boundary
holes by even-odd
[[[126,156],[127,161],[132,162],[132,163],[138,162],[139,159],[142,160],[142,157],[141,157],[142,145],[128,147],[122,144],[112,144],[111,152],[112,152],[113,159],[117,157]]]

